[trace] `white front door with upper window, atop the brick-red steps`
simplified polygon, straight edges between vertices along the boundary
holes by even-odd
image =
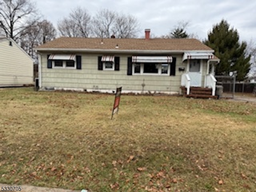
[[[200,60],[189,60],[189,77],[190,86],[201,87],[202,86],[202,72]]]

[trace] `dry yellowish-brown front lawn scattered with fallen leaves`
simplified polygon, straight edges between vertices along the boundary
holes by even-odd
[[[0,90],[0,183],[255,191],[255,103]]]

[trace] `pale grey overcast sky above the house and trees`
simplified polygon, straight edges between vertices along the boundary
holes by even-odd
[[[256,40],[256,0],[40,0],[36,1],[44,18],[55,27],[77,6],[93,16],[100,9],[129,13],[140,22],[139,37],[150,28],[156,36],[166,35],[179,21],[189,21],[188,33],[207,37],[212,26],[222,19],[236,28],[240,40]]]

